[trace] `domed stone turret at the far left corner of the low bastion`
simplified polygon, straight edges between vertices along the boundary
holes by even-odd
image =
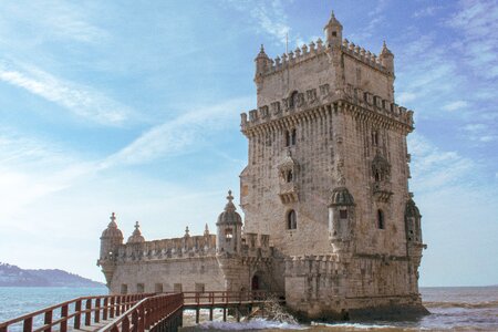
[[[115,269],[117,248],[123,243],[123,232],[117,228],[116,215],[112,212],[111,222],[101,236],[101,255],[97,266],[102,267],[107,284],[111,283]]]

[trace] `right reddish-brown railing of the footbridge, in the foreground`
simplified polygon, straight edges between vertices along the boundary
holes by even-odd
[[[128,332],[153,329],[178,313],[184,307],[181,293],[162,294],[144,299],[98,332]]]

